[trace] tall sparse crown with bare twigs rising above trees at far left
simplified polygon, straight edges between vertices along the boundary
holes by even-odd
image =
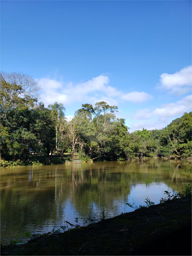
[[[40,98],[41,87],[31,76],[22,73],[0,72],[1,118],[17,106],[34,106]]]

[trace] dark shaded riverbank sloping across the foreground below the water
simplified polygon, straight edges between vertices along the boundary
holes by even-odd
[[[191,196],[3,246],[1,255],[191,255]]]

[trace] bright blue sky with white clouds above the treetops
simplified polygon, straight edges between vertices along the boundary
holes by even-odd
[[[191,111],[191,1],[1,0],[4,72],[42,87],[45,105],[118,106],[130,132]]]

